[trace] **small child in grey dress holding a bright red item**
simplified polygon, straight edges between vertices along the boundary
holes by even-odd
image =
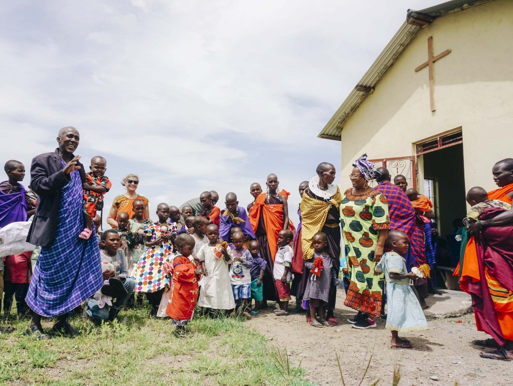
[[[310,306],[310,325],[317,328],[330,326],[326,321],[324,306],[328,303],[331,286],[338,286],[337,270],[326,251],[327,240],[324,232],[317,232],[312,238],[313,257],[305,261],[305,275],[308,275],[303,300]],[[319,319],[315,314],[319,315]]]

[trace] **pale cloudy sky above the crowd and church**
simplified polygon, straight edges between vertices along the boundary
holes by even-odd
[[[4,2],[3,159],[29,169],[74,126],[84,164],[107,159],[108,203],[132,172],[151,213],[211,189],[245,206],[251,182],[275,173],[297,222],[299,182],[340,166],[340,142],[317,134],[406,10],[440,2]]]

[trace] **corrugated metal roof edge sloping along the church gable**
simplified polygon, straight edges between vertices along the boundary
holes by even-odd
[[[414,17],[416,14],[431,17],[446,15],[451,12],[458,12],[469,7],[488,3],[493,0],[452,0],[420,11],[408,10],[406,18]],[[324,129],[319,133],[319,138],[341,140],[341,132],[347,119],[356,111],[365,98],[372,94],[381,78],[393,66],[396,60],[401,56],[404,49],[410,44],[422,27],[404,22],[399,31],[393,35],[385,49],[363,75],[357,86],[350,92],[343,101],[336,113],[333,114]]]

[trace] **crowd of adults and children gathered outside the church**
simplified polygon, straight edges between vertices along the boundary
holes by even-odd
[[[179,334],[194,312],[252,318],[275,302],[274,314],[286,317],[292,296],[295,312],[306,311],[312,327],[324,328],[339,323],[338,290],[346,293],[345,306],[358,312],[348,319],[353,328],[375,328],[374,319],[386,317],[393,348],[412,347],[399,333],[427,328],[423,309],[435,266],[432,203],[408,189],[404,176],[392,183],[390,172],[374,169],[365,154],[354,162],[351,187],[343,193],[327,162],[301,182],[297,227],[288,215],[290,193],[279,189],[275,174],[267,176],[265,191],[251,184],[254,199],[246,208],[230,192],[221,209],[218,193],[205,191],[182,206],[161,202],[156,221],[148,198],[136,192],[139,177],[128,174],[126,192],[108,212],[112,229],[100,232],[98,212],[112,186],[107,160],[93,157],[86,172],[74,155],[79,142],[76,129],[61,129],[58,148],[33,158],[29,191],[19,184],[23,164],[5,165],[0,227],[30,219],[27,241],[41,247],[33,270],[36,252],[23,252],[7,256],[0,271],[5,312],[14,294],[18,313],[32,311],[28,335],[49,337],[42,317],[57,318],[53,333],[77,335],[68,322],[73,310],[83,307],[100,326],[143,298],[151,316],[170,319]],[[471,211],[457,273],[472,294],[478,329],[493,338],[484,343],[496,351],[482,356],[512,359],[513,248],[504,232],[513,222],[513,159],[499,161],[493,174],[498,191],[472,188],[467,195]]]

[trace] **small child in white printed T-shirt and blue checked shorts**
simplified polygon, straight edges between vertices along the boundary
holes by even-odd
[[[232,236],[235,249],[229,248],[224,256],[229,256],[230,262],[230,283],[233,291],[233,298],[238,306],[242,305],[242,313],[246,318],[251,315],[246,311],[251,299],[251,272],[253,258],[251,253],[243,247],[244,233],[235,232]]]

